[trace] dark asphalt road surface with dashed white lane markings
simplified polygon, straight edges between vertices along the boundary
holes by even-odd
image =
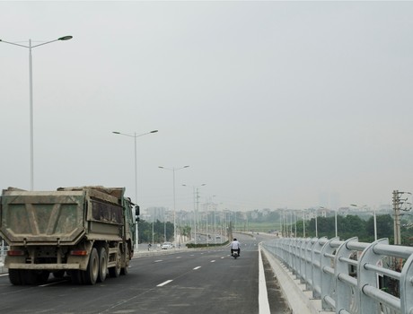
[[[259,238],[240,236],[239,240],[242,253],[238,259],[229,256],[228,248],[141,255],[132,259],[127,275],[93,286],[51,275],[44,285],[13,286],[2,275],[0,312],[259,313]],[[267,272],[273,290],[268,267]],[[289,313],[282,297],[268,297],[271,313]]]

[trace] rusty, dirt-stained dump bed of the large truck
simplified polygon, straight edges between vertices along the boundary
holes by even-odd
[[[124,188],[57,191],[7,188],[1,196],[0,234],[9,245],[74,245],[86,238],[117,240],[124,223]]]

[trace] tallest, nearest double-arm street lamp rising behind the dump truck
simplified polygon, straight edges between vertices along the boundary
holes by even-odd
[[[33,170],[33,166],[34,166],[34,144],[33,144],[33,69],[32,69],[32,57],[31,57],[31,49],[32,48],[36,48],[36,47],[40,47],[58,40],[69,40],[72,39],[73,36],[64,36],[64,37],[60,37],[58,39],[54,39],[54,40],[50,40],[50,41],[46,41],[46,42],[42,42],[40,44],[37,45],[31,45],[31,39],[29,39],[29,46],[26,45],[22,45],[22,44],[18,44],[15,42],[10,42],[10,41],[5,41],[3,39],[0,39],[0,42],[4,42],[5,44],[10,44],[13,46],[18,46],[18,47],[22,47],[22,48],[28,48],[29,49],[29,92],[30,92],[30,127],[31,127],[31,191],[34,188],[34,170]]]

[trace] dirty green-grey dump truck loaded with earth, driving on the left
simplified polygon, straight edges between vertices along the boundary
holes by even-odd
[[[94,284],[127,275],[139,206],[124,194],[125,188],[100,186],[4,189],[0,236],[9,245],[4,267],[10,282],[45,283],[52,274]]]

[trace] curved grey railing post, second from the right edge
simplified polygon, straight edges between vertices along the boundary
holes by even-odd
[[[375,254],[373,252],[374,246],[376,244],[389,244],[388,239],[376,240],[371,243],[363,251],[357,266],[357,287],[358,287],[358,298],[360,305],[360,314],[370,314],[370,313],[380,313],[380,302],[375,301],[373,298],[368,297],[363,293],[363,287],[365,284],[372,285],[375,288],[379,288],[377,283],[377,273],[374,271],[368,271],[365,269],[365,264],[372,264],[374,266],[378,265],[378,262],[382,259],[381,255]],[[404,312],[403,312],[404,313]],[[406,312],[407,313],[407,312]]]

